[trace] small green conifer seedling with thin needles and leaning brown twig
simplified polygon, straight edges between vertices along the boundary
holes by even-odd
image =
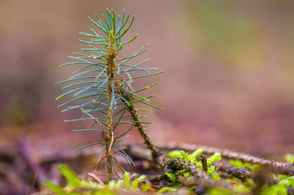
[[[101,33],[98,34],[96,30],[92,28],[92,33],[80,33],[80,35],[84,37],[92,38],[90,41],[80,40],[82,43],[87,44],[90,47],[82,50],[91,52],[91,54],[74,52],[75,56],[69,57],[77,61],[61,65],[82,65],[82,67],[74,71],[74,75],[69,79],[58,82],[58,84],[71,83],[64,86],[63,89],[73,89],[56,99],[68,94],[73,94],[72,100],[63,103],[60,106],[75,103],[75,105],[68,106],[63,112],[80,109],[83,117],[81,119],[67,120],[65,122],[91,121],[91,124],[87,128],[73,131],[98,131],[101,132],[101,136],[104,139],[104,142],[92,143],[78,149],[93,145],[102,146],[103,149],[98,157],[97,167],[103,160],[105,160],[106,163],[104,170],[106,175],[110,178],[116,179],[121,178],[119,172],[125,172],[123,166],[117,160],[116,155],[123,156],[129,164],[134,165],[130,157],[117,145],[117,142],[123,141],[128,137],[126,134],[132,129],[132,127],[137,127],[138,131],[145,139],[147,147],[152,152],[154,162],[157,161],[157,158],[160,155],[157,148],[152,144],[144,127],[145,123],[149,124],[151,122],[142,122],[140,120],[141,116],[138,114],[138,111],[150,110],[136,109],[134,104],[141,102],[150,107],[162,109],[148,103],[149,98],[154,97],[154,95],[142,97],[138,94],[158,83],[154,83],[139,90],[135,90],[131,83],[136,79],[153,76],[163,73],[163,71],[150,73],[149,71],[157,69],[140,68],[140,65],[148,60],[144,60],[135,65],[128,63],[129,60],[147,51],[146,48],[148,44],[133,55],[127,57],[119,56],[119,52],[123,49],[123,46],[131,43],[138,36],[138,34],[136,34],[130,40],[122,42],[123,36],[134,22],[134,17],[130,19],[130,14],[128,13],[125,15],[124,10],[122,18],[120,15],[116,16],[113,10],[109,11],[106,9],[106,12],[106,16],[102,14],[102,19],[99,18],[97,14],[96,20],[89,17],[90,21],[101,31]],[[140,76],[132,76],[131,74],[135,72],[141,72],[144,74]],[[115,133],[116,128],[123,124],[129,124],[130,127],[128,127],[121,135],[117,135]],[[98,125],[99,128],[94,128],[95,125]]]

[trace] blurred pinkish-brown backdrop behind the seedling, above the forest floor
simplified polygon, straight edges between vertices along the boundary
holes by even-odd
[[[155,142],[185,142],[254,155],[294,152],[294,1],[293,0],[1,0],[0,151],[24,138],[33,150],[75,148],[99,141],[100,134],[72,132],[85,127],[63,120],[55,82],[77,66],[90,32],[87,16],[106,8],[135,15],[125,37],[139,37],[121,56],[149,50],[138,58],[165,73],[137,80],[135,87],[159,85],[151,103],[165,110],[147,113]],[[98,31],[98,30],[97,30]],[[124,144],[143,140],[136,130]],[[47,149],[44,149],[47,148]]]

